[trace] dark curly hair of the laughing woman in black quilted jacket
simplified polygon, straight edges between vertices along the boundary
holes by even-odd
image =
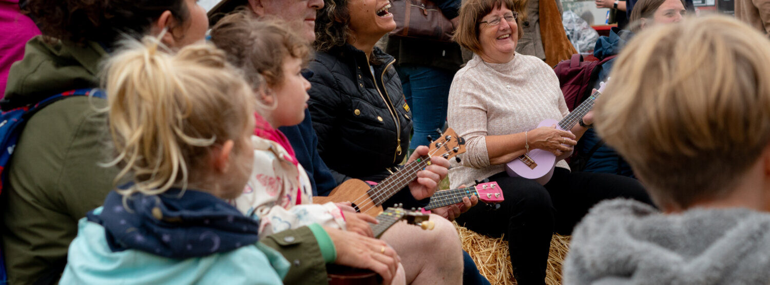
[[[328,52],[335,46],[345,45],[353,38],[350,32],[350,11],[348,0],[323,0],[323,8],[316,16],[316,41],[313,47],[319,52]]]

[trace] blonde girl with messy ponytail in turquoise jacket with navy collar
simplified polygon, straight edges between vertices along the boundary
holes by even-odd
[[[128,183],[80,220],[61,282],[281,283],[286,260],[225,201],[251,170],[253,92],[213,45],[129,46],[103,74]]]

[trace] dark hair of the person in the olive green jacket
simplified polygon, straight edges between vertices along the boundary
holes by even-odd
[[[189,18],[184,0],[28,0],[24,6],[25,14],[49,38],[108,47],[123,34],[141,38],[165,11],[178,22]]]

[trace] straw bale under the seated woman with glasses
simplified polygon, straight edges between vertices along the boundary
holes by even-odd
[[[493,284],[516,284],[511,267],[511,254],[508,252],[508,242],[503,236],[494,238],[480,235],[472,230],[454,223],[463,249],[476,262],[481,275],[487,277]],[[561,284],[561,266],[569,250],[570,236],[554,234],[551,238],[551,252],[548,253],[548,263],[545,283]]]

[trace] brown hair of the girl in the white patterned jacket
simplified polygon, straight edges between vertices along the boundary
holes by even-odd
[[[239,8],[216,22],[211,42],[227,52],[227,60],[242,69],[254,90],[283,82],[283,61],[287,56],[310,62],[310,43],[292,32],[276,18],[256,18],[253,12]]]

